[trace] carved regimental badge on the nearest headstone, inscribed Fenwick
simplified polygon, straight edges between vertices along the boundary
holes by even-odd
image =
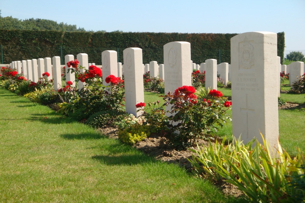
[[[250,69],[254,65],[254,47],[247,37],[239,43],[239,69]]]

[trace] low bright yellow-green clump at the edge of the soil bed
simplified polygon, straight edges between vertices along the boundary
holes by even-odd
[[[144,140],[150,135],[149,127],[139,123],[132,124],[129,128],[124,130],[119,129],[119,139],[127,144],[133,145],[136,142]]]

